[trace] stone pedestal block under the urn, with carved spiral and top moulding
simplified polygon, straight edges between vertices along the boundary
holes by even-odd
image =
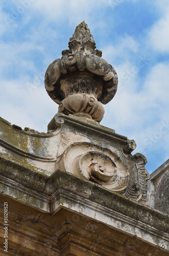
[[[136,148],[134,140],[116,134],[115,130],[95,121],[73,115],[55,115],[48,130],[59,132],[64,125],[67,129],[62,128],[62,143],[55,169],[97,183],[134,201],[149,203],[147,159],[140,153],[132,156]],[[73,129],[70,129],[71,125]]]

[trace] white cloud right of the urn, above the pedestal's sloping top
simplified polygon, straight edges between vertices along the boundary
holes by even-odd
[[[135,152],[150,155],[151,151],[158,151],[161,147],[167,152],[165,160],[169,144],[168,69],[169,65],[165,63],[155,65],[139,92],[135,90],[139,78],[131,79],[130,85],[124,86],[105,107],[102,122],[103,125],[109,122],[117,133],[134,139],[137,144]]]

